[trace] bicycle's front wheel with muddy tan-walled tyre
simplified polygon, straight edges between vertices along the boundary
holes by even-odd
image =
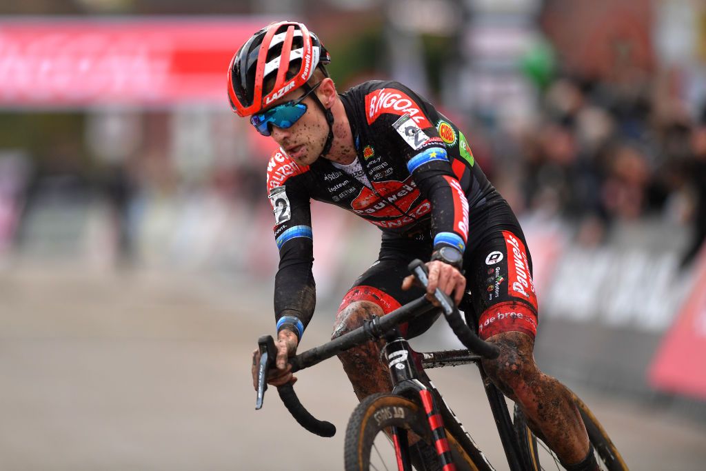
[[[450,417],[443,417],[443,422],[456,469],[489,470],[484,462],[474,464],[472,457],[479,458],[479,452],[455,432],[455,422]],[[362,400],[346,429],[345,469],[441,471],[421,405],[400,395],[385,393]]]

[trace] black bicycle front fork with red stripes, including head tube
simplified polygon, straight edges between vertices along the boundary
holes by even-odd
[[[390,368],[393,394],[409,396],[410,393],[412,395],[416,393],[419,396],[424,412],[426,412],[426,419],[429,422],[429,429],[431,430],[434,448],[436,449],[441,469],[443,471],[456,471],[448,439],[446,439],[446,433],[443,428],[441,412],[429,388],[419,381],[419,369],[415,364],[414,351],[409,347],[407,340],[395,338],[388,341],[383,352],[385,352]],[[393,429],[393,443],[395,445],[395,454],[397,455],[397,467],[399,467],[400,471],[412,470],[412,466],[409,464],[407,434],[399,433],[399,431]]]

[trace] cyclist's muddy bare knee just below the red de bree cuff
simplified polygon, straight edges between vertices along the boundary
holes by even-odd
[[[542,374],[532,356],[532,338],[523,333],[508,332],[488,340],[498,346],[500,355],[483,361],[486,373],[510,398],[523,395],[527,386]]]

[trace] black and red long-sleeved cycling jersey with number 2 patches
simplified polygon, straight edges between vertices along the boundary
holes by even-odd
[[[278,326],[285,321],[300,335],[316,299],[311,199],[352,211],[396,237],[460,251],[473,224],[469,209],[502,201],[462,132],[405,85],[369,81],[339,96],[357,150],[354,165],[319,158],[300,167],[282,149],[268,165],[280,250],[275,314]]]

